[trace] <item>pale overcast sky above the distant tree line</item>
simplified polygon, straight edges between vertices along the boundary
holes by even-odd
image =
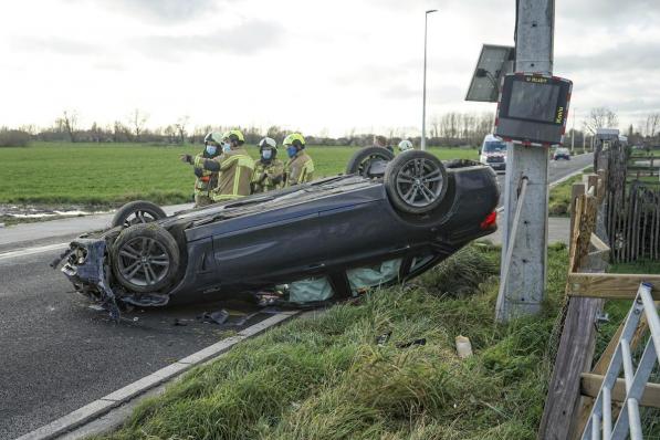
[[[429,118],[494,112],[463,98],[481,44],[513,44],[515,0],[21,0],[0,3],[0,126],[139,107],[151,127],[413,135],[430,8]],[[621,126],[660,111],[658,23],[660,0],[556,0],[554,73],[574,81],[576,126],[595,106]]]

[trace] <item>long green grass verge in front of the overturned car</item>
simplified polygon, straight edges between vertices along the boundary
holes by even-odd
[[[542,314],[507,325],[494,322],[499,254],[472,245],[408,286],[241,343],[104,438],[534,439],[567,252],[549,250]],[[459,276],[465,264],[471,276]],[[378,346],[386,332],[390,341]],[[457,335],[470,337],[473,357],[457,357]],[[426,345],[397,348],[420,337]]]

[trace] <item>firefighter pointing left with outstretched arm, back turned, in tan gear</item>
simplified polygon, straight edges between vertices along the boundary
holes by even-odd
[[[195,167],[207,171],[217,171],[218,185],[211,191],[214,202],[233,200],[250,195],[250,181],[254,170],[254,160],[243,148],[245,138],[241,130],[232,129],[222,135],[222,154],[214,159],[185,159]]]

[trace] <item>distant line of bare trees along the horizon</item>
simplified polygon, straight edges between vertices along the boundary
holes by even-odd
[[[163,127],[148,127],[149,115],[139,108],[132,111],[125,118],[112,124],[99,125],[96,122],[88,127],[81,126],[81,118],[76,111],[63,111],[50,127],[34,125],[18,128],[0,128],[0,147],[24,146],[30,140],[42,142],[84,142],[84,143],[149,143],[149,144],[187,144],[201,143],[209,132],[224,132],[228,126],[192,126],[188,116],[179,117],[175,123]],[[491,113],[458,113],[450,112],[432,116],[428,124],[427,145],[429,146],[479,146],[483,137],[493,129],[494,115]],[[572,124],[568,124],[572,126]],[[590,143],[597,128],[618,126],[616,112],[608,107],[593,108],[589,116],[583,122],[582,129],[567,130],[565,144],[570,145],[575,137],[575,145]],[[261,137],[270,136],[282,140],[291,130],[280,126],[271,126],[265,133],[260,127],[240,127],[245,135],[245,142],[255,144]],[[416,132],[415,128],[391,128],[387,133],[378,133],[388,138],[389,144],[396,145],[401,139],[410,139],[420,144],[420,136],[407,136]],[[304,133],[304,132],[303,132]],[[341,137],[327,135],[305,134],[307,143],[325,146],[368,146],[371,145],[374,134],[357,134],[349,130]],[[660,137],[660,113],[652,113],[637,126],[630,125],[621,134],[628,135],[629,142],[658,144]]]

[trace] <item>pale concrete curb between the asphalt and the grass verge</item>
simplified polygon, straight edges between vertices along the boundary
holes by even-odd
[[[190,368],[229,352],[229,349],[231,349],[238,343],[256,336],[270,327],[291,319],[300,313],[300,311],[291,311],[273,315],[239,332],[235,336],[228,337],[213,345],[202,348],[201,350],[193,353],[190,356],[187,356],[155,373],[151,373],[150,375],[134,381],[133,384],[117,389],[98,400],[85,405],[84,407],[70,412],[66,416],[50,422],[49,425],[38,428],[32,432],[28,432],[27,434],[19,437],[17,440],[50,440],[66,434],[67,432],[106,415],[113,408],[126,404],[127,401],[145,394],[158,385],[163,385],[176,378]]]

